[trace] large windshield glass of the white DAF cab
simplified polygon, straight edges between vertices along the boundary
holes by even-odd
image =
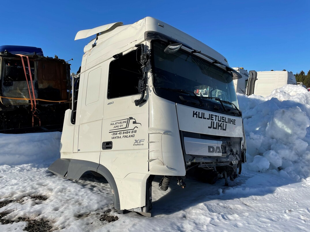
[[[220,98],[239,107],[229,72],[182,49],[167,54],[164,52],[167,45],[162,41],[153,42],[155,88],[188,90],[197,96]],[[231,107],[228,103],[225,105]]]

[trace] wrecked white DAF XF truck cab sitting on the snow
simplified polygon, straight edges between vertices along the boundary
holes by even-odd
[[[114,207],[150,216],[152,181],[185,187],[189,169],[233,180],[246,140],[233,79],[240,74],[195,38],[157,19],[79,31],[92,35],[74,77],[53,173],[106,178]],[[204,175],[203,172],[201,175]],[[180,199],[181,200],[181,199]]]

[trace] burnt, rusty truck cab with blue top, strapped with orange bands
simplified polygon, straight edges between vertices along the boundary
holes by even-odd
[[[70,64],[63,59],[45,57],[37,47],[0,46],[1,133],[62,129],[70,88]]]

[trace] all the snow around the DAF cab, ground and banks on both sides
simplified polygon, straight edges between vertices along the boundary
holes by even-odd
[[[238,100],[248,149],[242,174],[229,187],[187,178],[180,189],[172,180],[166,192],[155,179],[152,218],[117,214],[107,183],[47,171],[60,157],[60,133],[1,134],[0,207],[10,203],[0,213],[12,209],[2,219],[20,222],[0,230],[22,231],[28,222],[18,218],[29,218],[56,231],[310,231],[310,93],[287,85]]]

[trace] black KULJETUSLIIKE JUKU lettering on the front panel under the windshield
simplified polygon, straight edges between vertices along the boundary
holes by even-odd
[[[210,121],[209,129],[226,130],[227,124],[236,125],[236,119],[215,114],[205,116],[205,112],[193,111],[193,118],[201,118]]]

